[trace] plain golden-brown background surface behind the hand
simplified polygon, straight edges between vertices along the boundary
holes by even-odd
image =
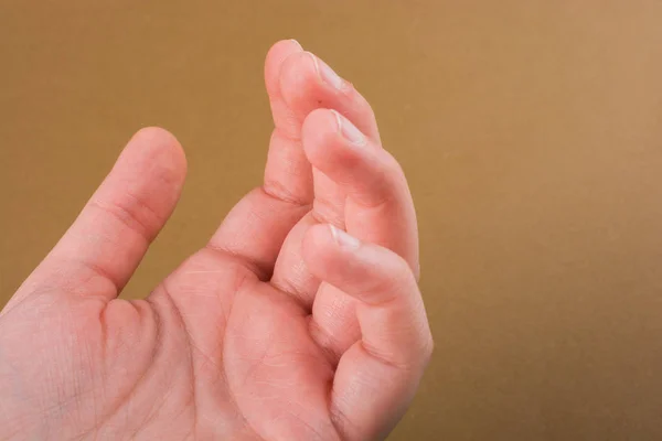
[[[260,180],[263,58],[297,37],[372,101],[420,215],[437,351],[393,440],[662,439],[661,23],[656,0],[1,0],[0,304],[141,126],[190,178],[126,295],[200,247]]]

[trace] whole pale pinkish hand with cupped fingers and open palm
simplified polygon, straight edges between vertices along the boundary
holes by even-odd
[[[367,101],[291,40],[264,183],[145,300],[118,299],[186,162],[140,130],[0,313],[1,440],[380,440],[433,338],[416,215]]]

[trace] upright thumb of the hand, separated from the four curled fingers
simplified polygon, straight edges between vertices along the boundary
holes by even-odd
[[[116,298],[173,212],[186,174],[177,139],[140,130],[78,218],[8,303],[33,292]]]

